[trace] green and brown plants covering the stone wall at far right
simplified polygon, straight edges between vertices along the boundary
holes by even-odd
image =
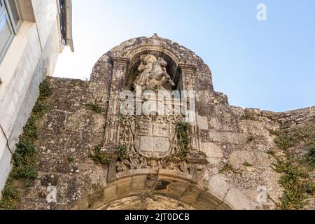
[[[276,158],[274,169],[282,174],[279,183],[284,188],[277,209],[303,209],[309,203],[309,195],[315,194],[315,183],[309,176],[309,171],[314,169],[315,132],[309,128],[300,128],[272,134],[281,155],[274,151],[270,155]]]

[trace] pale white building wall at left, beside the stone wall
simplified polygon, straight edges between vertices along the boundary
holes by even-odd
[[[20,1],[23,15],[35,22],[23,21],[0,64],[0,192],[15,144],[38,98],[38,85],[52,75],[60,49],[57,1]]]

